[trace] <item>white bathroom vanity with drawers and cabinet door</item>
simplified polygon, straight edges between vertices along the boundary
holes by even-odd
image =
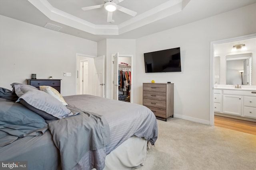
[[[214,114],[218,113],[256,121],[256,86],[215,85]]]

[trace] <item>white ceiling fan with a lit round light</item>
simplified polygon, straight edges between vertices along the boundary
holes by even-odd
[[[82,10],[87,11],[87,10],[93,10],[97,8],[105,8],[108,11],[108,17],[107,17],[107,22],[114,23],[114,20],[112,19],[113,12],[115,10],[122,11],[130,16],[136,16],[137,12],[134,12],[132,10],[129,10],[127,8],[124,8],[122,6],[117,5],[118,3],[122,2],[123,0],[104,0],[104,4],[101,5],[95,5],[95,6],[87,6],[82,8]]]

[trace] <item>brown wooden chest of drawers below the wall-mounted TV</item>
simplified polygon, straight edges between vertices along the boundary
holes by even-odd
[[[173,90],[173,83],[143,83],[143,105],[166,121],[173,117]]]

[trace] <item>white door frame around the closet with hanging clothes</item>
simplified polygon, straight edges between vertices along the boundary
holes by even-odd
[[[117,52],[118,53],[118,52]],[[114,66],[113,66],[113,62],[114,62],[114,55],[116,54],[112,54],[111,55],[111,96],[112,96],[112,99],[113,99],[113,94],[114,94],[114,84],[113,84],[113,77],[114,77]],[[134,63],[133,63],[133,55],[122,55],[122,54],[118,54],[118,57],[131,57],[131,73],[132,73],[132,84],[131,84],[131,90],[130,90],[130,93],[132,94],[130,96],[130,103],[133,103],[133,96],[134,96],[134,91],[133,91],[133,83],[134,83],[134,70],[133,70],[133,67],[134,67]]]

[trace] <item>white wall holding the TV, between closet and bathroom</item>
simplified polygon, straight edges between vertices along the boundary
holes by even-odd
[[[256,4],[136,39],[134,103],[142,83],[174,83],[174,117],[210,124],[210,41],[256,33]],[[182,72],[145,73],[143,53],[180,47]]]

